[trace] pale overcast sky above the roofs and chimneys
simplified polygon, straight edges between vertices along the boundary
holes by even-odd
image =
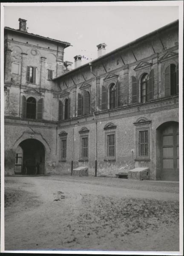
[[[19,28],[27,20],[28,32],[66,41],[64,60],[75,55],[97,58],[97,44],[106,52],[123,46],[178,19],[177,6],[6,6],[4,26]],[[83,59],[82,64],[86,61]]]

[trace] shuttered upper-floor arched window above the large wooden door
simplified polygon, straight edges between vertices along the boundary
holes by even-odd
[[[179,67],[170,64],[165,70],[165,96],[179,93]]]

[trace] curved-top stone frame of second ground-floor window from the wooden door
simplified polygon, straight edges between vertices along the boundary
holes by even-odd
[[[113,123],[107,123],[105,126],[104,126],[104,128],[103,128],[103,130],[105,131],[105,143],[104,143],[104,145],[105,145],[105,147],[104,147],[104,161],[115,161],[116,160],[116,131],[115,131],[115,129],[116,129],[116,125],[114,125]],[[108,137],[108,135],[112,135],[112,134],[114,134],[115,135],[115,154],[114,154],[114,156],[108,156],[107,155],[107,151],[108,151],[108,149],[107,149],[107,137]]]

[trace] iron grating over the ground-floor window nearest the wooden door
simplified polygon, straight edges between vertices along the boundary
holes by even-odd
[[[148,156],[148,131],[139,131],[139,156]]]

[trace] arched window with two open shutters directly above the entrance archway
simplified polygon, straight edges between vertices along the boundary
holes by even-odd
[[[34,97],[29,97],[26,99],[25,96],[22,96],[22,115],[23,118],[42,119],[43,99],[36,101]]]

